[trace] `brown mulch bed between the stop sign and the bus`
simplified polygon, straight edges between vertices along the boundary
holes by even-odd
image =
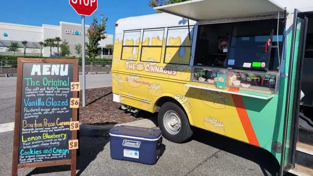
[[[133,122],[155,116],[146,111],[140,111],[137,116],[121,109],[121,103],[113,101],[112,87],[86,89],[86,106],[82,107],[82,91],[79,92],[80,122],[92,125],[115,125]]]

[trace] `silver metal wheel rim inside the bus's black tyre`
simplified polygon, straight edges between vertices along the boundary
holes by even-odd
[[[163,124],[167,132],[177,134],[182,126],[180,117],[175,111],[169,110],[163,116]]]

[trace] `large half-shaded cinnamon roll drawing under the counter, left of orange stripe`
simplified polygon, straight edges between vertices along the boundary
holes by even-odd
[[[228,98],[221,92],[203,89],[200,94],[200,100],[207,106],[215,109],[224,109]]]

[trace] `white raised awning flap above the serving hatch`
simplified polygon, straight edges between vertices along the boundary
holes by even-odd
[[[273,0],[192,0],[154,9],[195,21],[284,13]]]

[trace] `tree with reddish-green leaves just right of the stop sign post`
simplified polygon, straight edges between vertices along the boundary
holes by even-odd
[[[105,39],[105,23],[108,18],[102,19],[102,24],[98,25],[97,18],[93,18],[89,29],[87,30],[87,35],[89,37],[89,44],[87,45],[86,54],[89,57],[95,58],[101,54],[101,48],[98,48],[99,41]]]

